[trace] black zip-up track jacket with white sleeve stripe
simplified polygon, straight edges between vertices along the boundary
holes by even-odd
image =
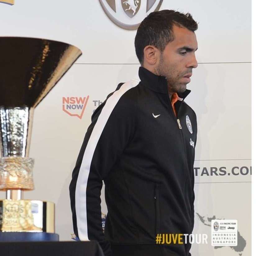
[[[97,240],[106,256],[111,244],[156,245],[158,233],[191,234],[194,226],[197,123],[183,101],[190,91],[178,94],[176,117],[166,78],[143,67],[139,77],[119,84],[95,110],[72,173],[75,235]],[[190,244],[156,246],[162,255],[190,255]]]

